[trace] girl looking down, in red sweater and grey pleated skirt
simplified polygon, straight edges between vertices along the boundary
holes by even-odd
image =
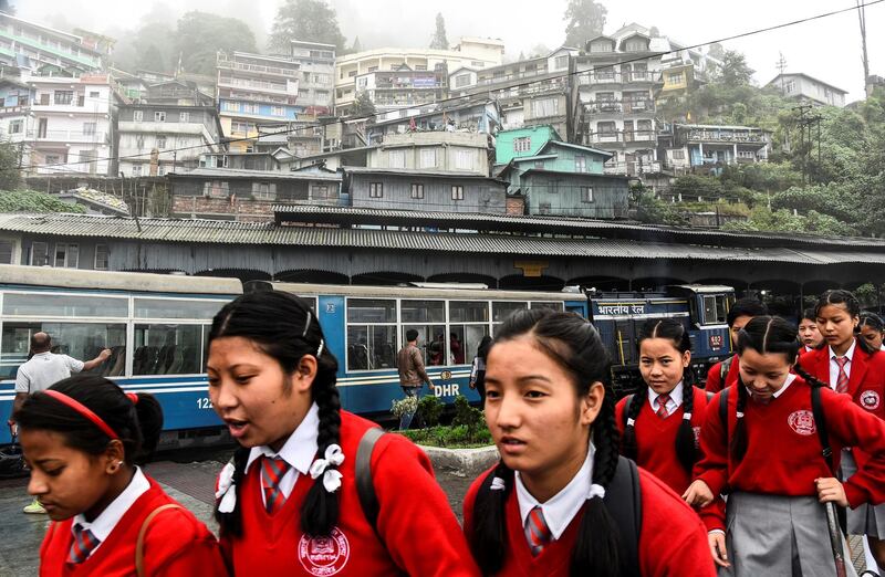
[[[720,575],[835,576],[821,503],[857,507],[885,500],[885,421],[795,365],[795,335],[782,318],[750,321],[738,335],[740,380],[707,410],[693,489],[729,493],[727,505],[717,500],[701,510]],[[824,438],[832,453],[823,451]],[[833,478],[842,447],[871,455],[844,483]],[[841,555],[854,575],[851,556]]]

